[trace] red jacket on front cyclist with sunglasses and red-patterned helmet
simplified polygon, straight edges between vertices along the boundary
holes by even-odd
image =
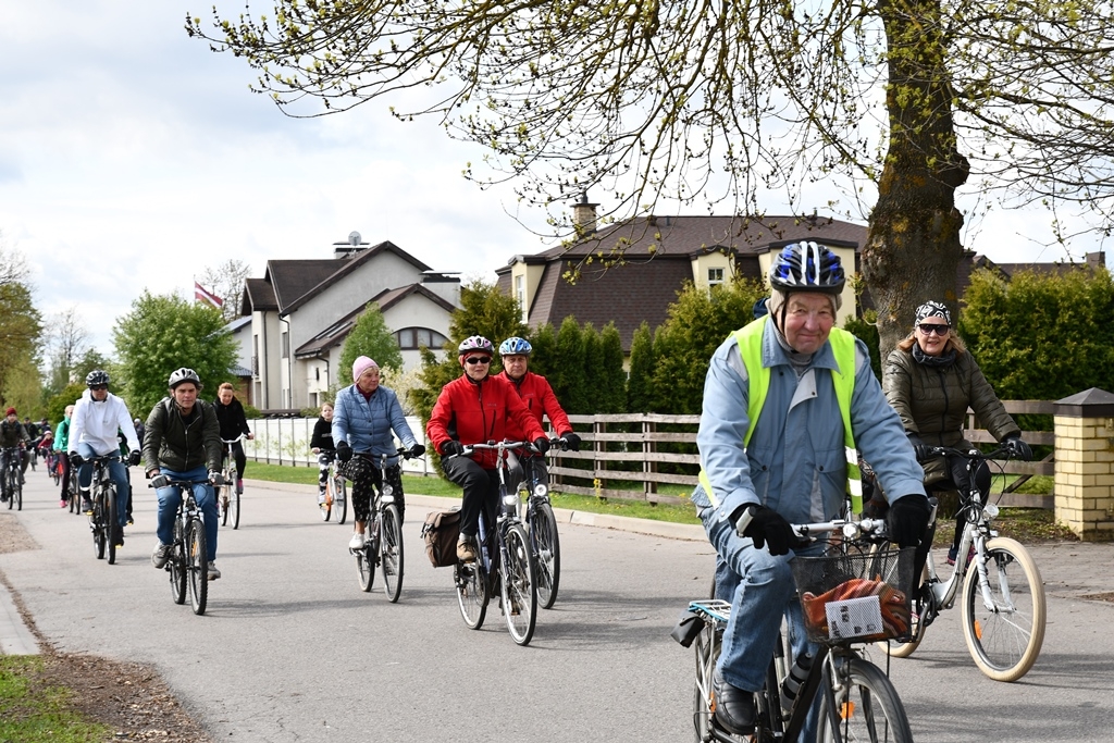
[[[516,431],[525,431],[526,436],[511,437],[512,424]],[[534,441],[544,437],[545,431],[506,379],[487,377],[482,382],[473,382],[463,374],[441,388],[426,426],[426,436],[441,451],[441,444],[450,439],[463,444],[504,439]],[[472,459],[485,469],[496,467],[494,451],[477,451]]]

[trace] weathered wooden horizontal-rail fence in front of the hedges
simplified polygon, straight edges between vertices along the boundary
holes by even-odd
[[[1010,414],[1047,414],[1053,402],[1044,400],[1004,400]],[[659,416],[632,413],[625,416],[569,416],[584,440],[579,452],[566,451],[550,462],[555,489],[599,498],[682,504],[687,493],[659,492],[659,486],[680,485],[685,490],[696,486],[700,456],[696,453],[696,428],[700,416]],[[994,437],[979,427],[968,411],[967,439],[974,443],[993,443]],[[1030,446],[1054,446],[1052,431],[1023,431]],[[683,451],[678,451],[683,449]],[[1019,475],[1007,490],[1012,491],[1034,475],[1054,473],[1053,454],[1035,462],[1005,462],[1007,475]],[[664,470],[664,471],[663,471]],[[1052,495],[1007,495],[1003,505],[1052,508]]]

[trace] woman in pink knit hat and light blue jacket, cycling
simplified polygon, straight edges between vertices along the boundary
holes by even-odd
[[[336,393],[332,434],[336,458],[344,462],[344,477],[352,480],[352,512],[355,531],[349,541],[350,549],[361,549],[364,529],[371,516],[371,489],[379,487],[385,477],[394,487],[394,504],[399,520],[405,510],[402,495],[402,468],[394,447],[394,436],[410,450],[411,457],[421,457],[426,447],[414,438],[402,405],[393,390],[379,383],[379,364],[368,356],[352,363],[352,384]],[[387,454],[387,469],[380,472],[378,462]],[[328,467],[328,466],[326,466]]]

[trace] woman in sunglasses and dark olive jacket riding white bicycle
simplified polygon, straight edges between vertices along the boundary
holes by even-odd
[[[964,439],[967,408],[986,430],[1017,459],[1028,460],[1033,451],[1022,441],[1022,429],[1006,412],[983,377],[974,356],[951,326],[951,313],[940,302],[917,307],[916,325],[908,338],[886,358],[882,373],[886,398],[901,417],[906,436],[925,468],[929,490],[968,490],[970,476],[962,457],[930,454],[931,447],[971,449]],[[983,462],[975,473],[979,489],[990,485],[990,469]],[[964,517],[957,514],[956,536],[948,549],[948,565],[956,564]]]

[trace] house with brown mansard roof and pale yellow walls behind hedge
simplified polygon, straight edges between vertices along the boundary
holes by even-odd
[[[614,321],[627,353],[643,321],[652,329],[665,322],[686,282],[710,287],[734,275],[761,278],[778,251],[799,241],[822,243],[858,270],[867,239],[866,226],[829,217],[648,216],[596,229],[595,206],[575,206],[585,238],[514,256],[496,271],[498,286],[518,300],[532,327],[559,326],[568,315],[597,329]],[[605,266],[616,251],[623,252],[620,265]],[[579,276],[569,282],[566,274],[577,264]],[[849,284],[840,324],[854,311]]]

